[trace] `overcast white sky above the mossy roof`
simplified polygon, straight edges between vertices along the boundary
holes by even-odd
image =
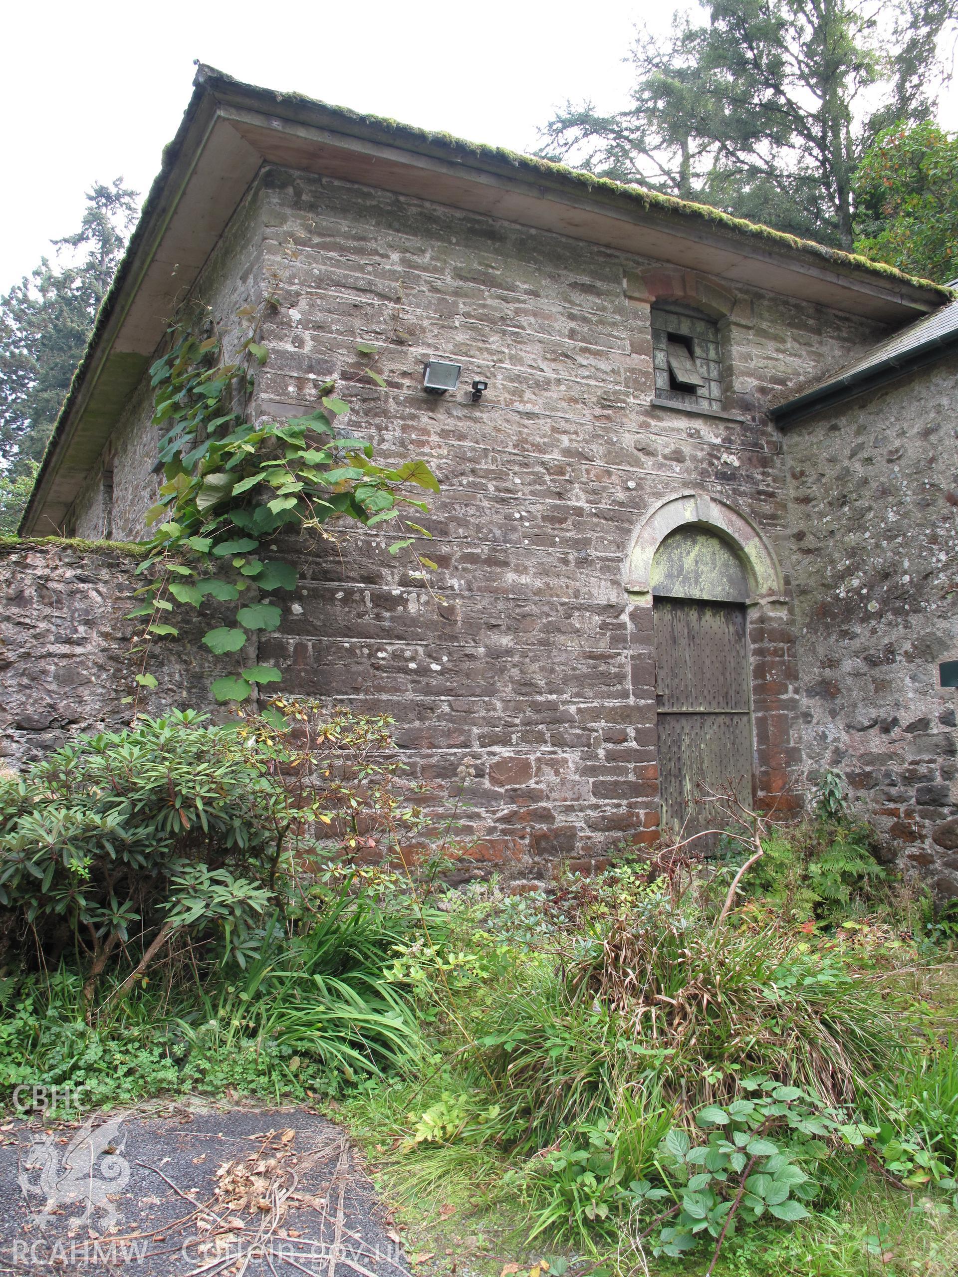
[[[193,60],[255,84],[533,149],[566,98],[627,102],[635,24],[681,0],[33,0],[6,9],[0,77],[0,292],[74,231],[83,192],[146,195],[189,100]],[[686,0],[688,3],[688,0]],[[685,6],[685,4],[682,5]],[[958,96],[943,97],[958,123]]]

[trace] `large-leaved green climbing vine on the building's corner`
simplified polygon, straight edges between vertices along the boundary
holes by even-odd
[[[294,562],[273,557],[277,538],[303,531],[328,538],[327,525],[336,520],[365,527],[392,521],[397,540],[390,553],[409,550],[420,572],[436,567],[415,550],[416,538],[429,533],[405,517],[410,508],[428,508],[413,490],[439,490],[429,466],[376,465],[372,444],[344,430],[349,405],[333,382],[319,387],[319,402],[308,415],[249,421],[255,373],[270,351],[257,340],[262,308],[245,306],[238,319],[247,336],[234,359],[224,358],[221,335],[201,313],[169,329],[170,349],[149,370],[153,423],[166,428],[160,442],[163,483],[147,512],[156,530],[138,568],[148,580],[138,591],[142,603],[129,613],[143,622],[134,650],[143,656],[137,682],[148,688],[157,686],[147,668],[153,642],[179,636],[171,613],[208,600],[235,603],[229,623],[202,640],[234,663],[211,684],[218,701],[243,701],[254,684],[281,681],[275,667],[241,660],[253,633],[278,628],[282,600],[299,580]],[[356,351],[369,356],[376,347],[363,344]],[[373,369],[365,373],[384,384]]]

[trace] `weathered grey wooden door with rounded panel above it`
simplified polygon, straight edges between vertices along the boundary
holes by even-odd
[[[731,545],[687,526],[655,552],[650,584],[662,829],[687,836],[728,824],[710,796],[751,806],[749,580]]]

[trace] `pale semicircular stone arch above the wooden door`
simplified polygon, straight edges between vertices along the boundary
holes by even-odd
[[[701,492],[683,492],[655,506],[637,526],[625,564],[625,587],[635,601],[651,601],[651,561],[678,527],[701,527],[729,543],[749,577],[749,603],[783,600],[778,559],[755,524],[741,511]]]

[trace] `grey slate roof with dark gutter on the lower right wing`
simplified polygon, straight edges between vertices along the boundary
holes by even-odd
[[[948,286],[954,287],[955,283],[958,281],[953,280]],[[954,350],[958,350],[958,301],[916,319],[907,328],[872,346],[855,363],[846,364],[800,395],[792,395],[775,405],[770,409],[772,416],[779,425],[787,425],[829,404],[934,363]]]

